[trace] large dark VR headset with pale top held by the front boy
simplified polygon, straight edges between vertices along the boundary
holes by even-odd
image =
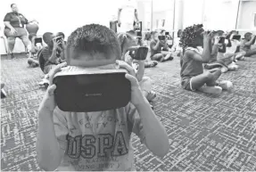
[[[55,101],[62,111],[108,111],[131,99],[127,70],[98,70],[68,66],[54,76]]]

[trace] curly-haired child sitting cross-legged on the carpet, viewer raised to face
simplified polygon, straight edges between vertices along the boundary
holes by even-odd
[[[222,89],[229,89],[232,86],[230,81],[217,81],[221,75],[219,69],[203,72],[202,63],[207,63],[211,59],[212,37],[212,33],[204,32],[202,25],[194,25],[183,31],[180,45],[184,49],[184,55],[181,59],[180,75],[184,89],[220,94]]]

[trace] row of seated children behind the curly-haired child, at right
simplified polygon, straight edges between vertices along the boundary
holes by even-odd
[[[255,43],[252,33],[246,33],[242,41],[241,36],[235,30],[227,34],[218,30],[213,35],[212,42],[216,44],[212,47],[211,60],[205,64],[207,70],[213,68],[220,68],[221,72],[237,70],[236,61],[243,61],[244,57],[256,54],[255,47],[251,47]]]

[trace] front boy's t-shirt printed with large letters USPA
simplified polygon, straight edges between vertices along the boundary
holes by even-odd
[[[64,157],[59,171],[135,171],[131,133],[143,126],[132,104],[98,112],[54,111],[54,129]]]

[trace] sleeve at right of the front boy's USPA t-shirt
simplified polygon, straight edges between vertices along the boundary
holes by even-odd
[[[128,105],[128,124],[131,126],[129,128],[132,128],[131,131],[135,133],[139,138],[141,143],[145,142],[145,132],[143,129],[142,121],[140,119],[140,116],[138,114],[138,111],[136,111],[136,107],[129,103]]]

